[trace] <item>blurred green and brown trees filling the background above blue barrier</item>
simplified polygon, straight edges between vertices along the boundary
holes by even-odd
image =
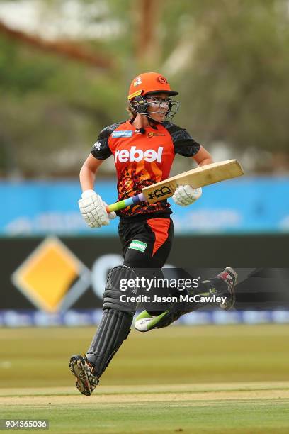
[[[1,4],[8,0],[0,0],[3,21]],[[0,28],[3,176],[77,175],[99,130],[126,118],[130,80],[152,69],[166,74],[180,91],[176,123],[208,148],[222,143],[232,149],[231,155],[246,152],[252,167],[265,165],[267,170],[274,161],[268,155],[278,153],[278,164],[289,155],[288,1],[30,4],[38,14],[28,36],[38,45],[23,40],[27,29],[21,28],[21,21],[19,38]],[[4,26],[7,30],[9,23]],[[49,53],[42,43],[49,45]],[[69,59],[61,50],[68,46],[100,55],[113,66],[103,72],[73,56]],[[185,167],[189,162],[183,160]],[[113,169],[113,162],[104,169]]]

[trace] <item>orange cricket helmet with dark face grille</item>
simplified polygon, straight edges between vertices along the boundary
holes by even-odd
[[[179,92],[172,91],[167,79],[157,72],[145,72],[144,74],[137,75],[130,84],[128,91],[128,100],[130,101],[130,108],[135,113],[140,113],[148,118],[147,113],[149,102],[146,96],[153,96],[154,94],[164,93],[169,96],[179,95]],[[165,101],[163,101],[164,103]],[[179,102],[171,101],[168,98],[168,110],[164,122],[169,122],[174,115],[179,111]],[[158,103],[154,103],[156,106]],[[159,103],[162,104],[162,103]],[[150,111],[150,113],[157,113],[157,111]]]

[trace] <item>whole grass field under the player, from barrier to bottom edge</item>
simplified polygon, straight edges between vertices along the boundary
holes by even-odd
[[[93,333],[0,329],[0,418],[46,418],[52,433],[289,433],[288,325],[132,331],[86,397],[68,360]]]

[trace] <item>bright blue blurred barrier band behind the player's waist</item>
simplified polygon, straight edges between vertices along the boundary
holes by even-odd
[[[96,189],[107,203],[117,200],[115,182],[97,182]],[[224,233],[289,234],[289,179],[245,177],[203,189],[194,206],[176,206],[176,235]],[[0,234],[16,235],[117,235],[118,219],[101,230],[84,223],[77,201],[79,182],[0,182],[5,212]]]

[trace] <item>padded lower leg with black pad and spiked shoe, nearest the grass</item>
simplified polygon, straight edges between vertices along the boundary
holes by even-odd
[[[135,279],[130,267],[115,267],[108,274],[103,294],[103,316],[86,355],[71,357],[69,367],[77,377],[77,389],[84,395],[91,395],[108,363],[128,337],[135,304],[120,301],[120,281]],[[130,294],[127,294],[130,295]],[[135,295],[132,293],[132,295]]]

